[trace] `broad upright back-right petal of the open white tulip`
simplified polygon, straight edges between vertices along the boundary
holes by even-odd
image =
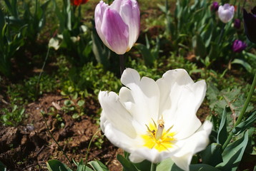
[[[200,127],[196,112],[205,98],[206,83],[194,83],[184,69],[167,71],[157,81],[160,90],[159,113],[174,126],[177,139],[187,138]]]

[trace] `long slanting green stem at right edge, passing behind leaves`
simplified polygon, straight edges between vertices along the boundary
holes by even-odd
[[[256,73],[255,73],[255,77],[253,78],[252,86],[250,88],[249,94],[248,94],[248,96],[247,96],[247,98],[245,100],[245,105],[242,107],[242,110],[241,110],[241,112],[240,112],[240,114],[239,114],[239,116],[237,118],[237,122],[235,123],[234,128],[238,124],[241,123],[242,118],[245,115],[245,111],[246,111],[246,109],[247,109],[247,107],[248,107],[248,105],[250,103],[251,98],[252,98],[252,94],[253,94],[253,92],[255,90],[255,86],[256,86]],[[222,150],[224,150],[227,147],[227,145],[230,143],[230,140],[232,139],[233,135],[234,134],[231,132],[230,135],[228,136],[227,140],[225,141],[224,145],[222,146]]]

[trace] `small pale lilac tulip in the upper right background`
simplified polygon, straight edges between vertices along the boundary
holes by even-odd
[[[235,12],[235,7],[230,6],[230,4],[224,4],[224,6],[220,6],[218,9],[219,18],[223,23],[227,23],[230,21]]]

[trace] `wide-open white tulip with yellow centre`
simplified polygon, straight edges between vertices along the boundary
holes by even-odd
[[[205,98],[206,83],[194,83],[184,69],[167,71],[157,81],[140,78],[127,68],[119,95],[101,91],[100,125],[104,135],[129,152],[129,160],[157,163],[169,157],[189,170],[192,155],[205,149],[212,123],[202,125],[196,113]]]

